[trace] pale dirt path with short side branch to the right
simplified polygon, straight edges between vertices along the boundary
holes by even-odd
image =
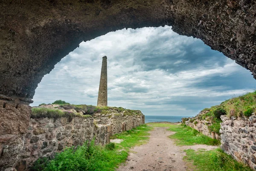
[[[126,163],[119,166],[117,171],[186,171],[183,161],[186,153],[183,150],[217,148],[208,145],[176,146],[174,141],[168,138],[174,132],[166,129],[156,127],[150,131],[149,142],[132,148]]]

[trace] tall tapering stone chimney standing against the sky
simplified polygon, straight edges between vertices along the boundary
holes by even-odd
[[[97,106],[108,106],[108,71],[106,56],[102,58]]]

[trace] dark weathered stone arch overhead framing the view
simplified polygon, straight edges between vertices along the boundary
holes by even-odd
[[[256,76],[253,0],[1,0],[0,94],[32,98],[65,55],[107,32],[172,26]]]

